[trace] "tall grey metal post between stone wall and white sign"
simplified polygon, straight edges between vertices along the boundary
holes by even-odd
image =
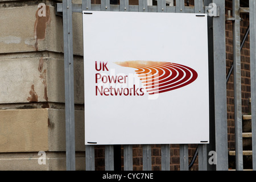
[[[66,167],[75,171],[75,103],[73,74],[72,0],[63,0]]]

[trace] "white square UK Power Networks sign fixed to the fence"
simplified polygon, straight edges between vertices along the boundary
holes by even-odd
[[[83,12],[85,144],[209,143],[202,15]]]

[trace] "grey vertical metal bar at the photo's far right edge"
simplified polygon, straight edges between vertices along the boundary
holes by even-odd
[[[253,170],[256,171],[256,1],[249,1],[250,7],[250,71],[251,71],[251,133]]]

